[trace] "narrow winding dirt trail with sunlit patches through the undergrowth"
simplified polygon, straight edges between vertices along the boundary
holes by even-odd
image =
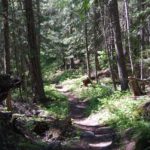
[[[64,94],[69,101],[69,115],[73,126],[81,131],[80,143],[72,145],[69,150],[116,150],[115,131],[107,125],[99,125],[98,117],[86,117],[85,109],[88,101],[80,99],[65,86],[56,86],[57,90]]]

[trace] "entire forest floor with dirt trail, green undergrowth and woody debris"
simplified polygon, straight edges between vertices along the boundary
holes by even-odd
[[[149,147],[150,124],[143,119],[141,109],[142,104],[149,115],[149,96],[134,99],[129,92],[112,91],[112,85],[107,85],[109,78],[101,79],[99,85],[83,87],[84,78],[75,75],[46,86],[52,99],[45,105],[17,100],[13,112],[0,105],[0,149],[144,150]],[[139,138],[144,138],[144,142],[136,146]]]

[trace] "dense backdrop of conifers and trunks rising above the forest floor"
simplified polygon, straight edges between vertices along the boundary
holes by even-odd
[[[128,76],[149,76],[148,5],[136,0],[2,1],[1,72],[25,79],[22,91],[32,89],[39,99],[45,97],[41,72],[45,77],[54,67],[80,69],[89,77],[95,72],[96,78],[109,67],[114,83],[119,78],[126,90]]]

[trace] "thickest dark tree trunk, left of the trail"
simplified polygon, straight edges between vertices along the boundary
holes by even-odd
[[[40,66],[40,56],[37,44],[37,35],[35,31],[35,20],[32,7],[32,0],[24,1],[28,31],[28,44],[29,44],[29,59],[32,71],[32,80],[34,87],[35,98],[43,102],[45,99],[45,92],[42,81],[42,73]]]

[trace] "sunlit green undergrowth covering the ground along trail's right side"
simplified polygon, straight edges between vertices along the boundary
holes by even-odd
[[[129,91],[114,91],[106,82],[83,87],[82,79],[66,80],[63,84],[81,100],[89,101],[87,115],[98,114],[101,124],[109,124],[120,132],[132,128],[136,136],[143,137],[147,133],[146,138],[150,137],[150,123],[141,115],[141,106],[149,100],[148,96],[134,99]]]

